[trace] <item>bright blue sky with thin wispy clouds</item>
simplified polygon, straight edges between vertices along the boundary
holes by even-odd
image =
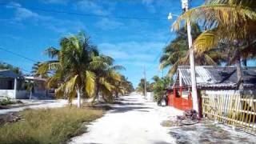
[[[192,3],[199,6],[202,0]],[[87,17],[46,10],[154,20]],[[0,46],[36,62],[46,61],[49,58],[42,54],[43,50],[58,47],[60,38],[83,30],[103,54],[126,67],[122,74],[137,86],[144,65],[148,79],[162,76],[158,58],[166,42],[174,38],[170,32],[174,21],[166,19],[169,12],[182,13],[179,0],[2,0]],[[0,54],[0,61],[31,70],[30,60],[3,50]]]

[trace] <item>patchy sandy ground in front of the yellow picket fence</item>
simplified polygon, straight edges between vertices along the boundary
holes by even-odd
[[[164,121],[162,126],[170,128],[169,134],[178,144],[190,143],[254,143],[252,135],[226,130],[223,126],[214,125],[213,122],[200,122],[194,125],[177,126],[175,121]]]

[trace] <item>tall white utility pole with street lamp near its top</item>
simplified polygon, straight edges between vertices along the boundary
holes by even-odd
[[[189,1],[181,0],[182,2],[182,10],[189,10]],[[169,14],[168,19],[172,19],[174,14]],[[175,16],[175,15],[174,15]],[[191,24],[190,20],[186,22],[187,26],[187,37],[189,42],[189,50],[192,47],[192,35],[191,35]],[[198,90],[197,90],[197,81],[195,77],[195,66],[194,66],[194,49],[190,50],[190,74],[191,74],[191,87],[192,87],[192,98],[193,98],[193,109],[198,112]]]

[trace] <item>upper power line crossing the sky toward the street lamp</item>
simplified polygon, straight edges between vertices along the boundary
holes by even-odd
[[[84,14],[84,13],[77,13],[77,12],[70,12],[70,11],[62,11],[62,10],[46,10],[46,9],[40,9],[37,7],[22,7],[22,6],[15,6],[10,4],[1,4],[0,6],[12,6],[16,8],[26,8],[30,10],[38,10],[48,13],[55,13],[55,14],[72,14],[72,15],[78,15],[78,16],[84,16],[84,17],[95,17],[95,18],[117,18],[117,19],[129,19],[129,20],[150,20],[150,21],[166,21],[166,18],[140,18],[140,17],[127,17],[127,16],[115,16],[115,15],[103,15],[103,14]]]

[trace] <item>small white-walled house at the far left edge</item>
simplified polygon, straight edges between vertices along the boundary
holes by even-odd
[[[24,78],[12,70],[0,70],[0,97],[26,98]]]

